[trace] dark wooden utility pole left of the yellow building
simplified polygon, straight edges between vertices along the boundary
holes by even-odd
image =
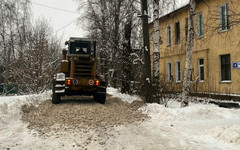
[[[147,0],[142,2],[142,30],[143,30],[143,50],[145,58],[145,102],[152,103],[152,79],[151,79],[151,60],[149,46],[149,27],[148,27],[148,9]]]

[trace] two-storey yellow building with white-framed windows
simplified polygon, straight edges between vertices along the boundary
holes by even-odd
[[[182,90],[188,9],[183,6],[159,19],[160,78],[176,92]],[[240,94],[240,1],[204,0],[195,12],[191,91]]]

